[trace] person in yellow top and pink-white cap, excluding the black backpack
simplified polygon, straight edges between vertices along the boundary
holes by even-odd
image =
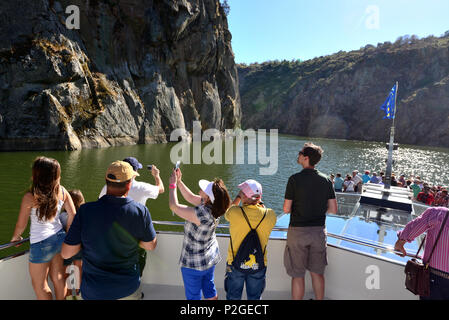
[[[228,257],[226,259],[226,299],[240,300],[242,298],[243,286],[246,284],[248,300],[260,300],[266,282],[267,252],[265,249],[271,230],[276,224],[276,214],[272,209],[267,209],[262,204],[262,186],[259,182],[252,179],[246,180],[239,184],[238,188],[240,192],[234,199],[233,206],[225,213],[225,219],[229,221],[230,241],[232,241],[229,244]],[[240,201],[242,202],[242,207],[239,207]],[[264,266],[261,266],[260,271],[252,274],[240,272],[232,265],[240,244],[250,231],[242,209],[251,224],[251,228],[257,227],[256,232],[264,251]]]

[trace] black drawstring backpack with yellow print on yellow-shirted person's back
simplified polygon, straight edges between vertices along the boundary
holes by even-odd
[[[263,219],[265,219],[265,216],[267,215],[267,210],[265,209],[265,213],[262,219],[260,220],[257,227],[253,229],[251,228],[251,224],[249,223],[248,217],[245,214],[245,210],[243,210],[242,207],[240,207],[240,209],[242,209],[243,216],[245,217],[245,220],[248,223],[248,226],[251,230],[243,239],[235,256],[234,256],[234,248],[232,246],[232,238],[230,239],[232,257],[234,258],[234,260],[232,261],[232,266],[236,268],[238,271],[243,273],[256,273],[265,268],[264,255],[266,246],[264,250],[262,250],[260,239],[256,230],[262,223]]]

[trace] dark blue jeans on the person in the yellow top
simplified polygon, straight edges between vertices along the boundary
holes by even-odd
[[[227,300],[241,300],[243,285],[246,283],[246,296],[248,300],[260,300],[265,290],[267,268],[257,273],[243,273],[233,266],[226,266],[225,291]]]

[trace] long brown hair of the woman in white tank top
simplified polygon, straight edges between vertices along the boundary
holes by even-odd
[[[58,210],[61,166],[55,159],[38,157],[33,162],[31,194],[38,208],[38,219],[51,220]]]

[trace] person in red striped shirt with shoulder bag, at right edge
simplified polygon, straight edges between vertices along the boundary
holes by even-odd
[[[430,267],[430,296],[421,300],[449,300],[449,220],[442,229],[432,257],[429,256],[441,229],[448,208],[429,208],[422,215],[410,221],[404,230],[398,232],[398,240],[394,245],[396,251],[407,254],[404,245],[427,232],[423,261]]]

